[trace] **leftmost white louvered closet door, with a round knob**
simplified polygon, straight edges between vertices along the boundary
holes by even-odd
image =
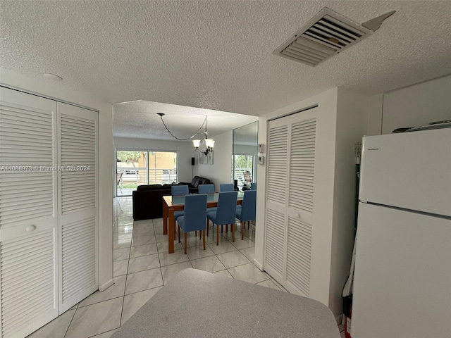
[[[25,337],[58,316],[56,102],[0,99],[0,337]]]

